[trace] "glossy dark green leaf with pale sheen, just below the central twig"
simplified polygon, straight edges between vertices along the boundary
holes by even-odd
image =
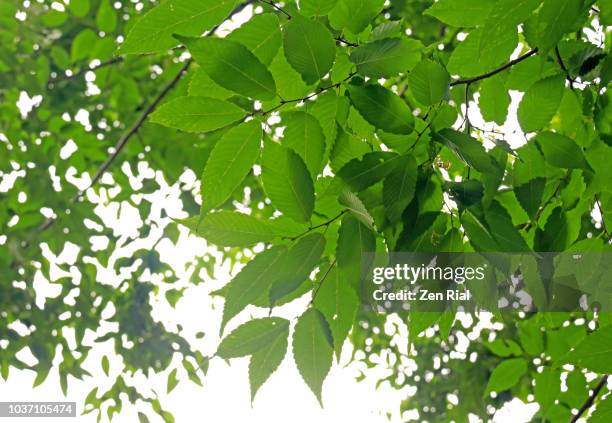
[[[410,134],[414,117],[406,103],[378,84],[349,85],[351,102],[365,120],[392,134]]]

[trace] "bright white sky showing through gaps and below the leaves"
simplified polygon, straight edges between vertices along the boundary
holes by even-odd
[[[220,34],[228,33],[240,24],[250,18],[253,13],[252,6],[247,7],[243,12],[237,15],[232,22],[226,23],[219,31]],[[517,49],[513,58],[518,56],[520,48]],[[37,107],[42,98],[30,98],[27,93],[22,93],[19,100],[19,107],[22,110],[24,118],[32,107]],[[483,121],[478,106],[476,103],[471,103],[469,108],[469,118],[471,123],[481,129],[496,129],[497,131],[506,134],[506,141],[513,148],[522,145],[526,139],[520,131],[516,109],[522,97],[521,93],[511,92],[512,104],[510,106],[508,120],[502,127],[487,124]],[[477,98],[476,98],[477,100]],[[87,120],[87,118],[85,118]],[[461,119],[459,119],[461,122]],[[85,124],[85,123],[84,123]],[[87,122],[87,125],[89,123]],[[69,156],[72,154],[72,141],[66,142],[67,148],[63,154]],[[493,143],[485,142],[487,147],[492,147]],[[67,158],[67,157],[66,157]],[[132,172],[124,166],[127,174]],[[139,172],[151,172],[147,166],[139,166]],[[196,183],[196,177],[193,173],[184,175],[183,182]],[[138,186],[138,178],[130,178],[134,187]],[[157,175],[156,180],[160,183],[162,189],[155,194],[153,202],[152,217],[153,220],[160,223],[160,227],[168,223],[168,219],[157,219],[161,208],[163,207],[166,213],[175,218],[186,217],[181,210],[179,201],[179,188],[177,185],[168,186],[161,175]],[[88,185],[89,178],[85,176],[82,179],[73,179],[73,182],[79,187]],[[4,185],[4,186],[2,186]],[[0,185],[0,190],[10,189],[12,183],[3,183]],[[90,196],[91,201],[99,202],[101,199]],[[103,217],[105,224],[115,228],[115,235],[130,236],[134,234],[136,226],[142,225],[138,212],[131,206],[124,204],[122,212],[119,214],[119,219],[116,219],[117,205],[104,208],[100,206],[99,214]],[[598,217],[596,217],[598,219]],[[138,241],[130,244],[127,248],[136,249],[139,246],[151,246],[157,241],[163,230],[154,228],[147,240]],[[221,321],[222,300],[210,296],[210,292],[225,285],[231,277],[236,274],[238,269],[233,269],[230,273],[227,265],[218,267],[216,271],[217,278],[209,280],[205,278],[205,282],[197,286],[189,283],[189,274],[185,271],[186,263],[194,257],[197,252],[204,251],[206,243],[196,237],[190,236],[187,232],[181,229],[181,237],[177,245],[172,245],[169,240],[164,240],[158,245],[158,250],[162,260],[172,264],[179,276],[179,284],[187,287],[184,297],[177,303],[176,309],[171,308],[165,301],[163,292],[154,300],[154,315],[155,318],[166,323],[167,328],[173,328],[177,323],[180,323],[184,331],[193,345],[206,354],[212,354],[219,343],[217,336]],[[123,250],[123,253],[126,250]],[[71,263],[75,259],[74,250],[66,249],[64,254],[60,255],[59,261]],[[111,261],[112,263],[112,261]],[[112,264],[111,264],[112,269]],[[74,271],[74,275],[78,272]],[[106,271],[101,274],[101,279],[107,283],[113,283],[117,280],[117,276],[112,272]],[[44,301],[44,296],[57,295],[57,287],[44,281],[42,278],[35,282],[37,288],[40,288],[40,301]],[[274,315],[279,315],[286,318],[293,318],[301,314],[306,308],[308,299],[298,300],[288,306],[280,307],[274,311]],[[252,314],[249,314],[252,313]],[[258,314],[259,313],[259,314]],[[248,309],[246,313],[240,314],[233,319],[228,325],[226,333],[238,326],[240,323],[248,320],[252,315],[260,315],[261,311],[254,308]],[[108,330],[108,327],[106,327]],[[203,339],[196,339],[197,332],[204,332],[206,336]],[[103,333],[99,331],[98,334]],[[70,334],[66,334],[70,338]],[[90,334],[91,338],[91,334]],[[166,392],[166,377],[165,372],[151,383],[140,377],[135,380],[135,383],[144,389],[154,389],[161,399],[162,405],[170,411],[176,418],[178,423],[203,421],[203,422],[249,422],[249,423],[285,423],[292,421],[296,423],[337,423],[343,421],[351,421],[356,423],[379,423],[379,422],[401,422],[402,416],[399,415],[399,404],[402,399],[406,398],[411,388],[410,378],[406,379],[406,388],[401,391],[396,391],[388,384],[382,384],[378,389],[376,382],[386,376],[386,366],[366,370],[361,363],[352,363],[346,365],[350,356],[350,344],[345,344],[343,357],[340,364],[334,364],[331,373],[325,381],[323,387],[323,402],[324,408],[321,408],[310,392],[302,378],[300,377],[297,368],[291,357],[291,347],[285,357],[280,368],[272,375],[272,377],[260,389],[254,404],[250,403],[250,390],[248,384],[248,358],[233,359],[231,365],[228,365],[221,359],[213,359],[210,364],[210,369],[207,376],[204,378],[204,387],[199,387],[189,381],[182,370],[179,361],[175,360],[173,364],[179,364],[179,380],[180,383],[170,395],[165,395]],[[77,381],[69,377],[68,397],[65,398],[59,388],[59,376],[57,369],[53,369],[41,386],[32,389],[32,383],[35,378],[34,372],[17,371],[11,368],[9,382],[0,381],[0,401],[76,401],[77,410],[81,410],[85,396],[89,393],[93,386],[102,385],[101,391],[108,389],[112,383],[112,378],[107,377],[100,365],[100,360],[103,355],[112,354],[112,344],[107,342],[100,347],[96,347],[90,357],[85,362],[86,369],[93,375],[94,380],[85,379],[85,381]],[[23,353],[23,358],[26,362],[34,360],[30,354]],[[57,357],[60,358],[59,355]],[[57,364],[58,360],[56,360]],[[172,366],[171,368],[173,368]],[[111,359],[111,376],[115,376],[121,371],[122,364],[120,358]],[[364,371],[366,374],[365,380],[356,382],[355,377],[359,372]],[[538,406],[535,404],[525,405],[519,400],[513,400],[511,404],[507,404],[499,410],[495,415],[494,421],[503,422],[528,422],[533,414],[537,411]],[[142,404],[136,406],[125,406],[120,415],[116,416],[113,421],[117,422],[135,422],[137,421],[136,412],[138,410],[147,412],[151,421],[156,420],[156,416],[151,412],[150,407]],[[390,413],[388,416],[386,413]],[[404,415],[404,419],[410,415]],[[26,423],[29,421],[40,422],[47,421],[45,419],[1,419],[3,422],[20,422]],[[53,421],[57,421],[53,419]],[[69,422],[95,422],[96,414],[91,413],[87,416],[77,417],[74,419],[66,419]],[[103,421],[106,421],[104,417]],[[474,421],[478,421],[474,419]]]

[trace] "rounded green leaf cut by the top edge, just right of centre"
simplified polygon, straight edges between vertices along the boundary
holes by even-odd
[[[329,13],[331,25],[359,34],[383,10],[384,0],[339,0]]]

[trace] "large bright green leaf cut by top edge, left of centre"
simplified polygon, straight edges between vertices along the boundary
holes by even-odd
[[[119,49],[123,54],[154,53],[179,42],[173,34],[196,37],[220,23],[237,0],[168,0],[145,13]]]

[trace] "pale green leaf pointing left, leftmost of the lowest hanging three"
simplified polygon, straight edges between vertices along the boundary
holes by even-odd
[[[289,335],[289,321],[280,317],[252,319],[223,338],[216,355],[224,358],[244,357],[265,349],[270,342]]]

